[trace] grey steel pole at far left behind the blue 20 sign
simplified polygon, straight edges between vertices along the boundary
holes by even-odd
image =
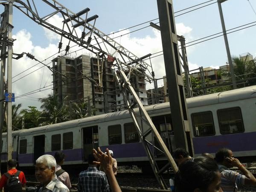
[[[12,41],[12,11],[13,3],[9,1],[8,17],[8,41]],[[8,44],[8,61],[7,61],[7,90],[12,93],[12,44]],[[12,102],[7,105],[7,153],[8,160],[12,159]]]

